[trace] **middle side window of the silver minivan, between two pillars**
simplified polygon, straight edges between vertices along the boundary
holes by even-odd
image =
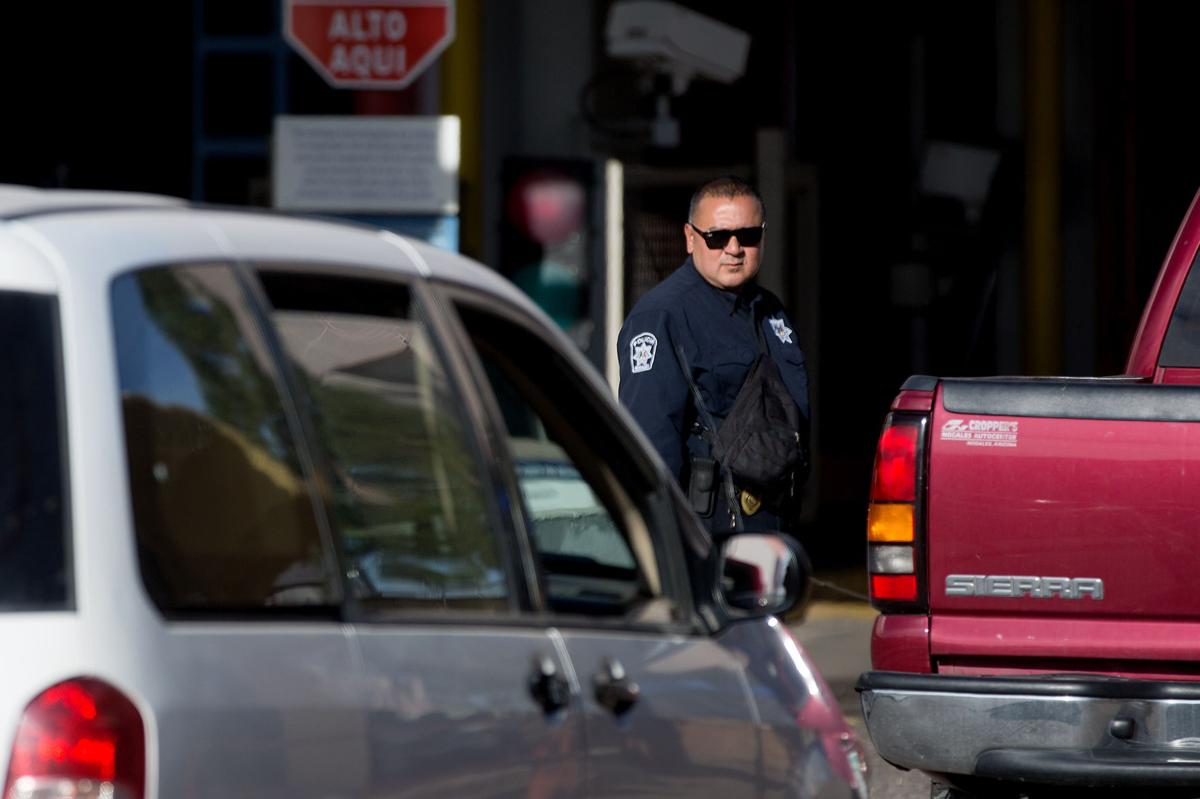
[[[480,458],[409,289],[272,270],[260,280],[306,395],[360,599],[380,608],[508,608]]]

